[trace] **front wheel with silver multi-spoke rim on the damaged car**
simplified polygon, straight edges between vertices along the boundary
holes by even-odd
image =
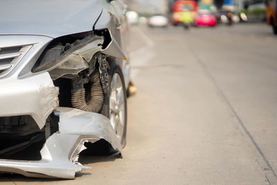
[[[107,104],[107,116],[121,146],[126,145],[127,131],[127,96],[123,73],[117,66],[111,65],[109,72],[109,103]]]

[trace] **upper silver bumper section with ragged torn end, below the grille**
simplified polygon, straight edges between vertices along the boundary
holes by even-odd
[[[0,117],[30,115],[41,129],[59,105],[59,88],[53,85],[48,72],[28,78],[4,78],[0,87]]]

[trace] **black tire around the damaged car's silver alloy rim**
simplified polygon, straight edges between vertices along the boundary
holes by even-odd
[[[103,108],[102,108],[102,114],[107,116],[107,118],[110,118],[109,115],[109,98],[110,98],[110,93],[111,93],[111,80],[113,79],[114,75],[117,73],[118,76],[120,77],[121,83],[122,83],[122,87],[123,87],[123,97],[124,97],[124,109],[125,109],[125,123],[124,123],[124,129],[123,129],[123,136],[122,139],[120,141],[121,146],[124,148],[126,145],[126,132],[127,132],[127,90],[125,87],[125,82],[124,82],[124,78],[123,78],[123,73],[120,69],[120,67],[116,66],[116,64],[114,62],[111,62],[110,64],[110,68],[109,68],[109,92],[108,94],[105,94],[104,97],[104,104],[103,104]]]

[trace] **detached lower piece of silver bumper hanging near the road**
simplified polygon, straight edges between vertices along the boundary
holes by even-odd
[[[0,171],[19,173],[26,177],[73,179],[76,172],[86,168],[78,163],[78,154],[85,149],[84,142],[94,143],[105,139],[115,150],[121,152],[120,142],[107,117],[66,107],[58,107],[55,114],[60,116],[60,130],[46,140],[40,151],[42,159],[0,159]]]

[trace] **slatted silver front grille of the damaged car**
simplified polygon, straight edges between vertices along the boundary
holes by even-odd
[[[30,47],[31,45],[0,48],[0,78],[15,68]]]

